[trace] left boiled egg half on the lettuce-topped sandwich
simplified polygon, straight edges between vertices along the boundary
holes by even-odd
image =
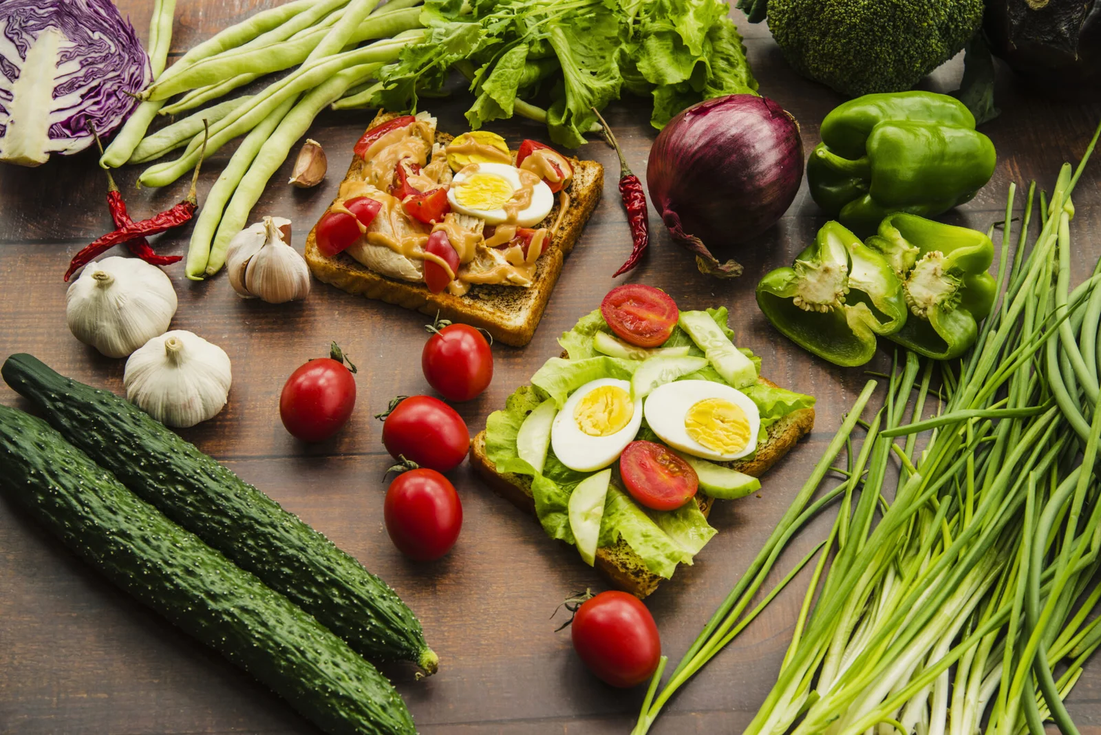
[[[614,462],[642,426],[642,398],[613,377],[586,383],[550,426],[550,448],[570,470],[596,472]]]

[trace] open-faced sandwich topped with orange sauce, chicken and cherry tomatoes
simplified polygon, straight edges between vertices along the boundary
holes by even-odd
[[[382,113],[356,144],[310,231],[314,275],[526,344],[592,213],[603,167],[536,141],[437,133],[436,119]]]

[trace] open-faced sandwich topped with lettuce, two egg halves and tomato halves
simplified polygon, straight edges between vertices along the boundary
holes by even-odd
[[[814,426],[815,399],[761,377],[727,309],[678,311],[613,289],[490,415],[471,461],[497,493],[615,586],[644,597],[715,535],[715,500],[756,479]]]

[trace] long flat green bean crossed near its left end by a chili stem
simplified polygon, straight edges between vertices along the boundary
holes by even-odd
[[[392,62],[411,42],[411,39],[379,41],[353,52],[303,64],[294,73],[269,85],[257,95],[248,106],[248,110],[238,108],[211,125],[204,157],[209,157],[230,140],[252,130],[284,100],[313,89],[342,69],[374,62]],[[199,150],[192,150],[175,161],[151,166],[142,172],[140,182],[142,186],[167,186],[190,171],[198,156]]]

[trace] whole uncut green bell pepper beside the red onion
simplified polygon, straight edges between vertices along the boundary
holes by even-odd
[[[865,235],[892,212],[935,217],[970,200],[996,160],[959,100],[926,91],[844,102],[826,116],[821,138],[807,162],[810,196]]]

